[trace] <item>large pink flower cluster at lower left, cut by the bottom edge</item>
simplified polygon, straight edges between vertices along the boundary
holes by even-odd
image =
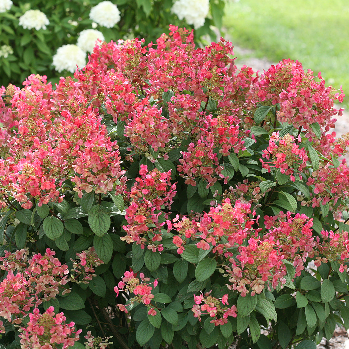
[[[54,313],[50,306],[43,314],[35,308],[29,313],[29,322],[26,327],[21,327],[21,348],[23,349],[55,349],[56,344],[63,344],[62,349],[74,346],[79,340],[81,329],[75,331],[74,322],[65,323],[63,313]]]

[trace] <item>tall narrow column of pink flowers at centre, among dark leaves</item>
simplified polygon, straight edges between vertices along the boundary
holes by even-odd
[[[161,222],[159,216],[163,215],[165,219],[168,217],[162,209],[171,208],[176,195],[176,184],[170,183],[171,170],[149,171],[147,165],[141,165],[139,173],[141,177],[135,179],[135,184],[128,194],[132,200],[126,209],[125,218],[128,224],[122,226],[127,236],[121,239],[127,243],[141,244],[141,248],[147,244],[149,250],[161,252],[163,247],[158,242],[162,240],[161,227],[165,222]],[[155,228],[148,227],[150,224],[155,225]],[[148,238],[149,233],[154,234],[151,240]]]

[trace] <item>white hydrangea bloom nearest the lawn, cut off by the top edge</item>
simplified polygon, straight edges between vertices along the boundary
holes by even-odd
[[[209,12],[209,0],[177,0],[171,11],[188,24],[193,24],[195,29],[203,26]]]

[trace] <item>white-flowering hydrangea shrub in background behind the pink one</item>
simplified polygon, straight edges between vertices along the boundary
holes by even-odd
[[[96,40],[156,39],[169,23],[215,37],[224,0],[0,0],[0,86],[40,73],[57,83],[87,63]]]

